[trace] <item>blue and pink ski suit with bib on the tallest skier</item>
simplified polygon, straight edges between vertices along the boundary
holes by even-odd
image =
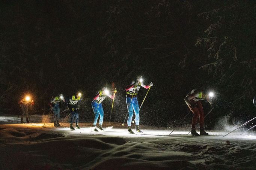
[[[131,126],[131,121],[133,118],[133,110],[135,112],[135,122],[136,125],[140,124],[140,113],[139,113],[139,103],[137,100],[137,94],[140,90],[140,87],[144,87],[146,89],[148,89],[150,86],[149,85],[143,85],[143,84],[138,84],[137,86],[134,85],[134,81],[132,81],[130,83],[130,85],[126,86],[125,90],[126,90],[126,104],[127,104],[127,109],[129,112],[129,116],[127,119],[127,125]]]

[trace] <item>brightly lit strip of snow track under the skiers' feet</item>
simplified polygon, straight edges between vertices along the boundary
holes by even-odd
[[[26,127],[36,130],[46,130],[47,131],[55,131],[55,132],[65,132],[65,134],[72,135],[106,135],[106,136],[119,136],[119,137],[192,137],[191,133],[188,134],[188,131],[173,131],[173,133],[169,136],[170,130],[150,130],[150,129],[142,129],[143,133],[136,133],[135,129],[134,132],[136,134],[129,134],[126,128],[115,128],[115,127],[103,127],[104,131],[95,132],[93,131],[93,127],[80,127],[81,129],[70,130],[69,127],[54,127],[53,123],[46,123],[43,127],[43,123],[30,123],[30,124],[9,124],[8,126],[17,126],[17,127]],[[199,133],[199,130],[197,130]],[[241,131],[233,132],[226,137],[222,137],[223,135],[227,134],[227,131],[207,131],[210,135],[209,136],[200,136],[202,139],[242,139],[242,140],[256,140],[256,135],[253,132],[247,132],[243,135]],[[196,137],[193,137],[196,138]]]

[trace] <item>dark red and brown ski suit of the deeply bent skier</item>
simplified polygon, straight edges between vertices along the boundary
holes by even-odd
[[[198,123],[198,117],[200,129],[204,128],[204,113],[201,100],[205,99],[206,97],[205,95],[203,95],[203,92],[200,89],[193,89],[184,99],[186,104],[190,109],[192,109],[191,111],[194,114],[192,118],[192,128],[196,128],[196,124]]]

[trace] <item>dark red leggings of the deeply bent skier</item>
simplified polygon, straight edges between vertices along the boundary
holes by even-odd
[[[188,107],[192,109],[189,105]],[[191,111],[194,113],[194,116],[192,118],[192,128],[196,128],[196,124],[198,123],[198,117],[199,117],[200,128],[203,128],[204,114],[203,114],[203,106],[201,101],[197,101],[196,107],[194,107]]]

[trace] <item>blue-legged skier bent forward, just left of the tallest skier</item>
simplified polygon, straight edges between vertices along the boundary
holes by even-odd
[[[107,88],[102,88],[102,90],[98,91],[96,93],[96,95],[93,97],[93,101],[92,101],[92,110],[95,114],[95,117],[94,117],[94,122],[93,122],[93,129],[94,131],[98,131],[97,128],[96,128],[96,124],[97,124],[97,121],[98,121],[98,118],[99,118],[99,130],[102,130],[102,123],[103,123],[103,117],[104,117],[104,111],[103,111],[103,107],[102,107],[102,101],[108,96],[110,97],[111,99],[114,98],[114,94],[116,93],[116,89],[114,89],[112,95],[109,94]]]

